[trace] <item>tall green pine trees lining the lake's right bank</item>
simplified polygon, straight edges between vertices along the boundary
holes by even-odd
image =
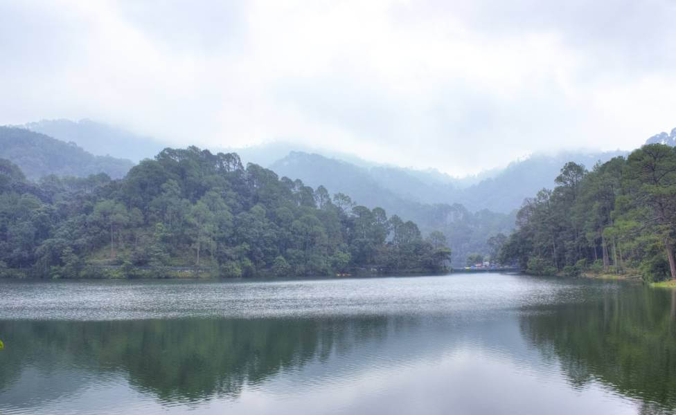
[[[534,274],[640,273],[676,278],[676,149],[644,145],[591,172],[567,163],[553,190],[526,199],[501,261]]]

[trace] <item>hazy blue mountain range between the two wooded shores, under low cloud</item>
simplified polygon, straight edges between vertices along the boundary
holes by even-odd
[[[459,203],[470,211],[483,209],[509,213],[518,209],[526,197],[543,187],[552,187],[561,166],[568,161],[588,169],[601,161],[625,155],[625,151],[599,153],[562,152],[554,156],[534,155],[511,163],[495,176],[468,185],[441,172],[401,167],[360,167],[319,154],[292,151],[269,167],[306,183],[323,183],[330,189],[351,194],[364,204],[384,204],[386,200],[416,203]]]

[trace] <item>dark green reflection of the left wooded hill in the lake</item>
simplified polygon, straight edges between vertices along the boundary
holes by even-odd
[[[397,324],[394,322],[394,329]],[[383,338],[389,319],[0,322],[0,391],[27,365],[122,371],[161,400],[237,396],[282,369]],[[9,342],[8,342],[9,343]]]

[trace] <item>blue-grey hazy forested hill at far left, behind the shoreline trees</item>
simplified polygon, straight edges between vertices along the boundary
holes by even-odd
[[[94,156],[73,143],[17,127],[0,127],[0,158],[12,160],[32,181],[49,174],[83,177],[105,173],[121,178],[134,165],[130,160]]]

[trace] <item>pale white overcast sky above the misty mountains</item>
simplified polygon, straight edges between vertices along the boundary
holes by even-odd
[[[0,0],[0,124],[468,174],[676,127],[676,1]]]

